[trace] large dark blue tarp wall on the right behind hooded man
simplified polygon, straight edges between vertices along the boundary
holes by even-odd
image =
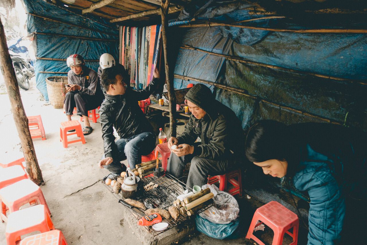
[[[178,21],[190,22],[193,17],[196,21],[210,19],[212,22],[233,23],[266,16],[249,14],[249,9],[254,6],[240,1],[209,2],[206,8],[200,10],[200,14],[193,14],[200,6],[194,7],[191,13],[183,11],[179,19],[170,25],[180,23]],[[348,20],[356,15],[337,17],[343,21],[340,25],[335,22],[330,24],[328,17],[323,21],[322,17],[325,16],[317,15],[317,21],[312,21],[312,17],[304,19],[302,25],[290,18],[262,19],[241,24],[283,29],[367,29],[366,19]],[[186,33],[181,46],[189,45],[249,61],[355,80],[353,83],[302,75],[229,61],[196,50],[179,49],[175,74],[244,89],[248,94],[257,96],[257,99],[253,99],[210,86],[217,99],[236,112],[244,129],[260,119],[273,119],[286,124],[324,122],[307,113],[341,124],[346,118],[346,125],[367,129],[367,86],[359,84],[367,83],[366,34],[269,32],[228,26],[177,28],[178,32],[183,30]],[[188,83],[197,82],[174,79],[174,87],[178,89],[185,88]],[[260,99],[306,113],[281,109]]]

